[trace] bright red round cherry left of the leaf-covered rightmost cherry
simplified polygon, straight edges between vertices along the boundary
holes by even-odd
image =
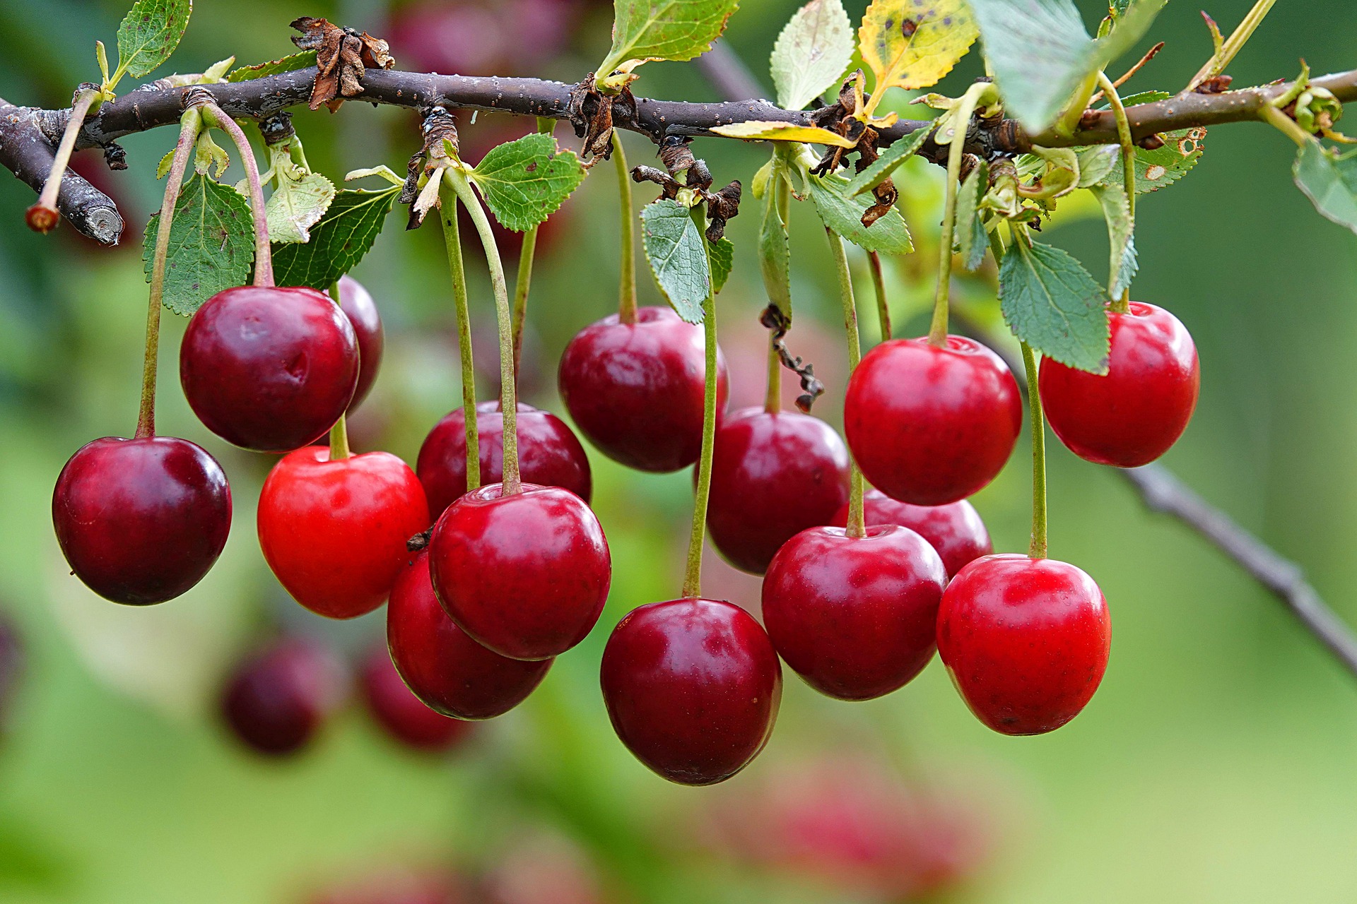
[[[963,336],[883,342],[848,379],[844,435],[892,499],[944,506],[985,487],[1012,454],[1022,396],[1008,365]]]

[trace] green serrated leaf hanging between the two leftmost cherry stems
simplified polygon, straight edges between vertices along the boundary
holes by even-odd
[[[141,256],[151,282],[160,214],[147,224]],[[163,304],[189,317],[223,289],[243,286],[254,262],[250,201],[201,173],[185,183],[170,224]]]

